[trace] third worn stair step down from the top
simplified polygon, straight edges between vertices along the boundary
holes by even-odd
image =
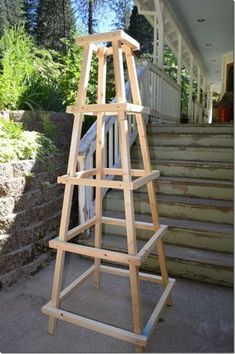
[[[150,146],[149,151],[152,160],[233,162],[233,149],[228,147]],[[139,146],[133,146],[131,156],[133,159],[142,159]]]

